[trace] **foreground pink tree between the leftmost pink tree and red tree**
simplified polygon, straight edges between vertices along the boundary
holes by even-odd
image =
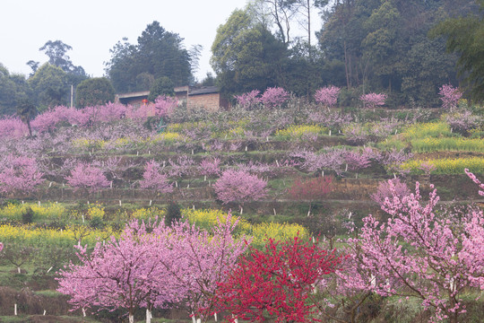
[[[230,268],[247,249],[250,239],[233,236],[237,224],[238,219],[229,213],[225,219],[218,219],[212,231],[186,222],[172,226],[168,245],[176,256],[160,263],[176,282],[176,288],[185,291],[180,305],[194,318],[209,319],[218,283],[225,281]],[[156,230],[153,233],[158,234]],[[173,258],[179,260],[173,262]]]

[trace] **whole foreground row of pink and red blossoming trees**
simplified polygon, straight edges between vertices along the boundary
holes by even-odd
[[[484,184],[473,174],[469,177]],[[417,299],[432,322],[462,321],[464,292],[484,289],[484,215],[468,206],[438,208],[436,190],[397,192],[388,183],[382,209],[368,215],[341,249],[295,238],[268,240],[246,252],[227,216],[211,234],[187,223],[130,223],[119,240],[79,252],[80,265],[60,272],[59,291],[79,309],[134,311],[181,306],[203,320],[357,322],[372,294]],[[356,232],[356,231],[355,231]]]

